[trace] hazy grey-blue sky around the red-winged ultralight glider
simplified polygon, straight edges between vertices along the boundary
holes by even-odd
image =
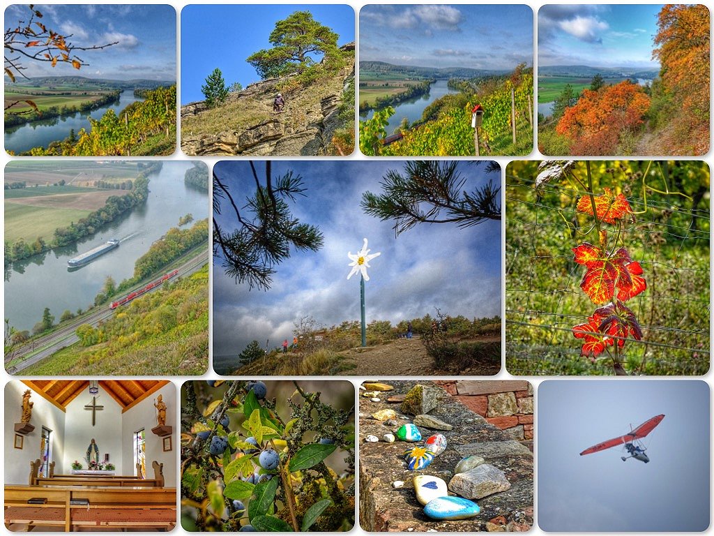
[[[580,456],[650,417],[650,462]],[[545,531],[702,531],[709,525],[709,387],[694,380],[550,380],[538,387],[538,525]]]

